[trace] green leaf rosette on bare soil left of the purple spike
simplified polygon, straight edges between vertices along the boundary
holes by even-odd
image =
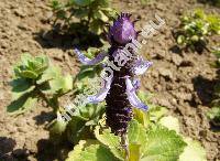
[[[21,62],[14,66],[12,103],[9,112],[20,114],[30,109],[37,100],[45,100],[54,110],[58,108],[58,97],[72,90],[73,78],[63,76],[58,67],[50,62],[46,55],[32,56],[23,54]],[[48,95],[48,97],[47,97]]]

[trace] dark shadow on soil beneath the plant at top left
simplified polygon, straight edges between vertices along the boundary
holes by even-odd
[[[68,31],[54,26],[52,30],[41,30],[34,33],[34,40],[44,49],[58,47],[69,50],[77,46],[87,50],[88,47],[100,47],[102,43],[99,37],[99,35],[89,32],[88,26],[81,26],[79,23],[73,23],[73,29]]]

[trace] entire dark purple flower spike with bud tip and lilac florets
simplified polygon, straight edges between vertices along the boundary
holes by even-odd
[[[119,58],[119,54],[123,53],[123,47],[138,39],[139,32],[134,29],[135,21],[131,21],[130,17],[131,14],[129,13],[121,13],[114,20],[113,25],[109,26],[108,40],[111,46],[108,53],[100,53],[90,60],[75,49],[79,61],[85,65],[95,65],[108,57],[109,62],[113,62],[114,66],[120,66],[120,69],[113,69],[112,76],[105,79],[105,85],[100,93],[89,96],[87,101],[97,104],[106,99],[107,126],[111,128],[114,135],[122,137],[122,141],[125,140],[128,125],[133,116],[132,107],[143,110],[148,108],[135,94],[140,86],[140,80],[136,76],[143,74],[152,65],[152,62],[144,61],[132,47],[128,49],[131,53],[129,58],[127,57],[121,62],[116,61]]]

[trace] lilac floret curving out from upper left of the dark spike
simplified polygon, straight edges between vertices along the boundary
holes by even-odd
[[[103,61],[103,58],[108,55],[107,53],[101,52],[95,58],[90,60],[90,58],[86,57],[84,55],[84,53],[81,53],[78,49],[74,49],[74,52],[77,54],[79,61],[84,65],[96,65],[96,64],[100,63],[101,61]]]

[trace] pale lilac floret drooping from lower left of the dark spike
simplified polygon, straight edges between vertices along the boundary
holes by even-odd
[[[100,89],[100,92],[95,96],[89,96],[87,98],[87,103],[91,104],[98,104],[100,101],[103,101],[110,87],[111,87],[112,78],[110,77],[108,80],[106,80],[105,86]]]

